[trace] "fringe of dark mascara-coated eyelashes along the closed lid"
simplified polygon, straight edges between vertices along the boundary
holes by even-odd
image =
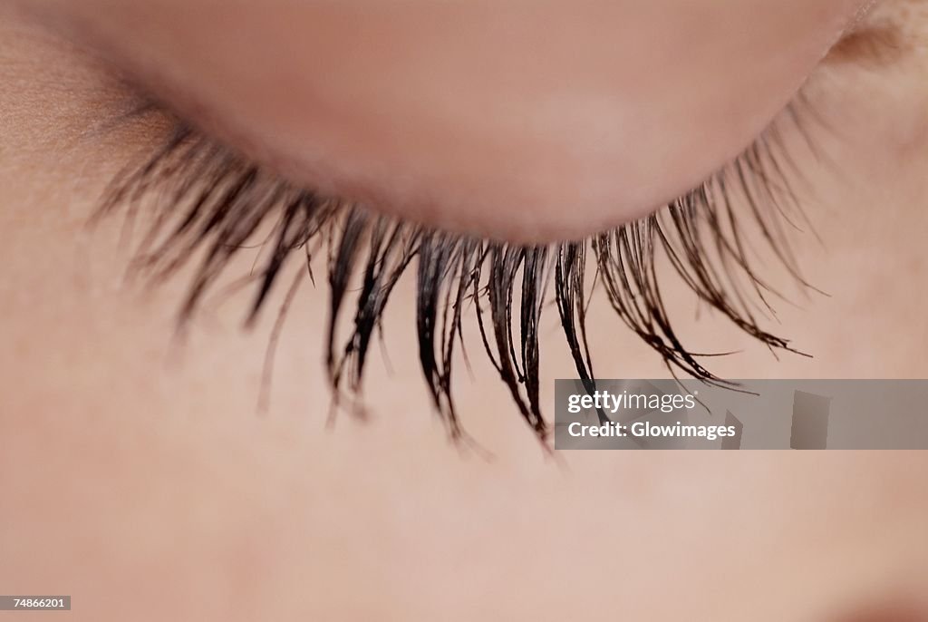
[[[145,107],[136,115],[152,110]],[[786,116],[801,125],[795,110]],[[383,311],[401,275],[415,269],[419,362],[434,408],[451,434],[462,434],[452,368],[456,348],[463,347],[465,307],[472,306],[485,353],[522,418],[544,438],[548,426],[539,401],[539,322],[552,279],[577,373],[593,388],[586,334],[590,262],[594,285],[599,284],[616,314],[664,358],[675,377],[682,371],[730,385],[699,362],[709,355],[691,353],[678,338],[657,279],[662,253],[703,303],[771,350],[796,352],[787,340],[760,327],[758,316],[775,315],[768,297],[776,292],[754,270],[748,256],[752,247],[732,206],[735,197],[747,204],[747,218],[766,245],[805,284],[784,227],[793,225],[789,213],[802,214],[785,170],[791,162],[773,126],[723,172],[658,214],[588,240],[525,247],[419,227],[295,188],[178,121],[154,154],[113,181],[99,214],[126,207],[132,221],[141,203],[154,202],[133,262],[152,279],[166,279],[199,262],[179,312],[182,326],[233,257],[270,227],[262,241],[269,251],[264,265],[242,281],[256,283],[249,323],[267,304],[284,267],[295,257],[305,262],[278,316],[271,356],[290,300],[305,276],[314,279],[311,259],[326,248],[326,364],[336,399],[345,389],[361,392],[370,345],[375,332],[383,330]],[[356,278],[360,292],[349,311],[349,285]],[[353,326],[340,342],[339,321],[349,315]]]

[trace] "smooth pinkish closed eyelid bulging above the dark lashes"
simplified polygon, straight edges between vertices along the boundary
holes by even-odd
[[[647,214],[737,156],[859,3],[280,2],[221,24],[176,0],[95,4],[67,8],[251,156],[392,214],[539,241]]]

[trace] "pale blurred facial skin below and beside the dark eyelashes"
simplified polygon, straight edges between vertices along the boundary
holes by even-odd
[[[801,236],[796,252],[831,297],[797,293],[780,332],[815,358],[777,361],[666,286],[694,350],[742,351],[712,361],[722,376],[928,376],[928,13],[887,2],[870,19],[883,17],[905,24],[892,58],[848,48],[810,83],[834,167],[797,150],[823,243]],[[458,406],[483,460],[430,414],[408,282],[387,317],[393,373],[375,362],[367,379],[369,421],[325,426],[325,293],[308,291],[256,416],[270,318],[241,334],[233,297],[177,348],[183,279],[126,284],[120,219],[84,227],[157,128],[102,131],[122,86],[10,6],[0,84],[0,591],[69,593],[74,609],[29,619],[924,619],[924,454],[559,464],[471,356]],[[663,377],[604,306],[599,374]],[[546,375],[573,376],[548,321]]]

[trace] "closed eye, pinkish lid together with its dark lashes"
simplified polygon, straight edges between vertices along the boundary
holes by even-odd
[[[740,16],[756,24],[750,36],[738,33],[736,43],[747,45],[750,39],[758,45],[755,51],[766,55],[770,51],[764,46],[766,37],[767,45],[775,37],[765,29],[771,25],[785,29],[800,15],[797,6],[786,5],[770,7],[768,19],[759,22],[755,15],[735,10],[730,19]],[[375,49],[395,70],[389,79],[371,73],[371,52],[357,52],[365,60],[361,65],[367,68],[366,75],[377,85],[373,91],[344,77],[345,71],[349,75],[353,71],[352,62],[360,62],[351,54],[339,64],[341,78],[307,86],[300,82],[300,67],[288,69],[286,59],[279,56],[296,45],[286,43],[290,31],[284,22],[272,22],[280,26],[279,45],[270,45],[277,56],[261,56],[271,53],[257,45],[252,32],[267,34],[270,24],[261,22],[260,16],[254,16],[257,24],[240,22],[242,16],[226,16],[218,40],[204,40],[206,35],[198,32],[200,60],[209,70],[204,72],[170,59],[187,45],[185,28],[203,18],[195,8],[185,9],[186,21],[148,16],[154,26],[143,28],[148,34],[141,37],[139,49],[150,54],[144,60],[131,46],[121,47],[124,42],[113,34],[113,24],[122,19],[119,10],[93,23],[77,11],[74,23],[83,24],[79,27],[92,32],[91,39],[110,49],[145,91],[158,94],[158,104],[145,107],[126,123],[164,114],[170,125],[163,144],[142,162],[130,163],[114,181],[102,213],[123,208],[131,214],[143,209],[152,214],[135,265],[154,278],[166,278],[195,264],[182,321],[195,313],[232,259],[255,243],[262,251],[247,279],[255,287],[248,314],[252,321],[281,280],[288,281],[283,286],[288,293],[281,314],[286,312],[286,301],[307,277],[315,277],[315,257],[316,272],[329,281],[326,369],[336,395],[361,390],[367,354],[382,330],[394,286],[403,275],[413,275],[419,361],[434,406],[452,434],[461,433],[452,369],[460,356],[462,326],[473,321],[522,418],[544,436],[548,427],[539,398],[541,318],[557,309],[577,373],[591,382],[594,369],[586,315],[594,284],[619,320],[664,358],[671,373],[726,383],[702,362],[703,355],[712,353],[690,352],[674,330],[672,309],[665,305],[658,279],[662,262],[702,303],[739,329],[770,348],[794,352],[787,340],[762,326],[777,292],[755,269],[758,256],[763,256],[757,246],[758,242],[766,245],[768,255],[779,258],[801,280],[787,242],[788,229],[802,218],[793,192],[797,172],[782,132],[789,124],[791,133],[802,134],[795,129],[805,124],[804,99],[794,93],[846,23],[849,5],[823,2],[812,11],[814,19],[804,21],[816,24],[815,28],[805,34],[790,31],[796,40],[791,39],[784,48],[787,58],[777,64],[793,71],[780,75],[763,68],[756,73],[767,79],[757,80],[736,63],[729,69],[738,80],[728,75],[693,90],[719,73],[717,68],[706,73],[706,67],[696,71],[701,63],[708,66],[710,60],[732,58],[729,46],[715,44],[724,43],[718,37],[730,30],[729,23],[723,31],[710,31],[712,45],[695,45],[688,57],[671,54],[664,42],[651,50],[651,59],[673,57],[685,66],[690,60],[696,63],[681,70],[684,73],[676,83],[654,79],[647,63],[632,58],[624,70],[616,68],[617,82],[625,90],[609,97],[597,90],[605,83],[594,79],[596,71],[580,71],[573,83],[561,84],[567,76],[573,78],[570,71],[580,66],[560,66],[553,58],[530,62],[518,54],[518,62],[500,60],[508,72],[496,74],[487,68],[487,77],[481,80],[480,71],[462,70],[451,74],[454,88],[445,83],[432,91],[438,87],[423,82],[423,75],[442,84],[448,63],[454,60],[468,66],[471,57],[483,58],[481,54],[470,50],[466,54],[458,50],[458,56],[451,58],[439,54],[436,69],[428,58],[412,62],[401,54],[403,50],[383,41],[382,49]],[[335,21],[314,22],[316,27],[326,26],[312,36],[304,33],[307,40],[338,43],[326,36],[339,32],[335,14],[342,9],[329,9],[333,14],[329,18]],[[422,10],[431,16],[430,27],[438,28],[449,19],[441,11],[432,15],[431,9]],[[458,6],[458,10],[463,9]],[[590,17],[598,11],[609,14],[611,9],[590,2],[577,10]],[[639,21],[658,19],[656,10],[645,9]],[[685,19],[677,23],[680,34],[697,25],[710,28],[712,16],[706,10],[685,11]],[[280,19],[280,14],[267,12]],[[281,12],[286,15],[283,7]],[[399,20],[399,25],[393,24],[397,28],[406,23],[393,13],[375,13],[388,24],[393,24],[390,19]],[[358,20],[352,22],[354,27],[367,32],[365,19],[351,16]],[[492,33],[495,27],[514,23],[512,16],[499,19],[476,19],[468,27]],[[468,23],[465,20],[465,26]],[[380,32],[380,27],[368,26],[372,36]],[[251,30],[236,30],[246,27]],[[158,46],[165,32],[179,37],[177,45]],[[530,34],[524,34],[526,40],[535,41]],[[639,33],[626,34],[625,40],[613,34],[606,42],[612,46],[576,42],[569,46],[557,37],[552,45],[557,44],[558,53],[571,49],[592,50],[598,58],[605,52],[628,56],[645,42]],[[616,37],[621,45],[614,43]],[[434,44],[431,38],[426,40]],[[257,56],[230,60],[227,55],[237,45],[247,50],[246,56]],[[496,44],[487,45],[495,49]],[[527,85],[517,85],[524,91],[510,93],[501,76],[516,76],[512,63],[520,62],[534,77]],[[404,75],[403,68],[410,65],[419,72]],[[555,72],[548,84],[537,71],[552,65],[567,72],[560,74],[561,80]],[[699,77],[693,78],[690,71]],[[305,72],[310,83],[328,75],[311,62]],[[187,75],[196,75],[196,80],[187,80]],[[770,75],[776,79],[769,79]],[[257,83],[250,82],[256,79]],[[480,106],[469,99],[464,88],[470,84],[467,79],[476,79],[476,85],[486,88]],[[210,95],[217,85],[223,87],[223,97]],[[281,86],[284,94],[274,90]],[[429,102],[426,108],[404,108],[416,99],[410,95],[415,86],[424,89],[412,94]],[[561,96],[574,86],[580,96],[565,103]],[[638,86],[643,90],[632,88]],[[332,91],[337,97],[329,95]],[[550,108],[551,101],[560,104]],[[342,108],[342,102],[354,103]],[[400,106],[399,112],[395,106]],[[506,116],[507,110],[514,116]],[[777,110],[783,110],[779,116]],[[694,118],[688,119],[687,111]],[[643,121],[636,114],[643,114]],[[749,146],[744,149],[740,143]],[[676,198],[669,194],[675,188],[684,188]],[[655,212],[653,206],[661,202],[664,207]],[[320,261],[325,262],[321,269]]]

